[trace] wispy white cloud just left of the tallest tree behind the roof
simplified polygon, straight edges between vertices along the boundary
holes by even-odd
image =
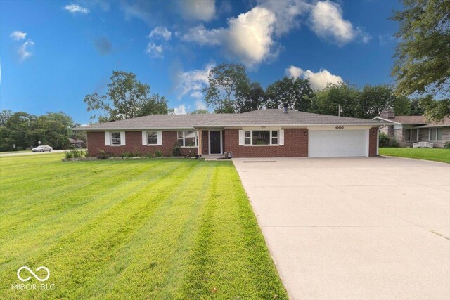
[[[192,70],[188,72],[180,71],[176,74],[176,90],[178,100],[188,95],[197,100],[203,99],[202,89],[208,84],[208,74],[214,67],[207,65],[203,70]]]

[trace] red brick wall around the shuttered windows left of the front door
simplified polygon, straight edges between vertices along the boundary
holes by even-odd
[[[89,155],[98,155],[100,150],[115,155],[121,155],[123,152],[134,152],[145,155],[147,153],[155,153],[155,150],[160,150],[163,155],[172,155],[172,148],[177,142],[176,131],[162,131],[162,145],[149,146],[142,145],[142,131],[126,131],[124,146],[105,146],[105,133],[102,132],[88,132],[88,152]],[[198,148],[181,148],[181,155],[188,155],[191,152],[193,155],[198,154]]]

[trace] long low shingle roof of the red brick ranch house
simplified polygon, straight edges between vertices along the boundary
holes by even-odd
[[[91,124],[78,127],[78,130],[109,129],[191,129],[193,127],[212,126],[255,126],[255,125],[321,125],[321,124],[373,124],[383,125],[385,122],[371,119],[319,115],[310,112],[290,110],[255,110],[242,114],[209,114],[209,115],[149,115],[134,119]]]

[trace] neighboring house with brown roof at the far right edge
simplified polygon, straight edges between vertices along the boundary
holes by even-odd
[[[396,116],[386,110],[373,120],[388,122],[380,131],[399,143],[401,147],[411,147],[413,143],[430,142],[433,147],[444,147],[450,141],[450,118],[442,122],[427,122],[423,116]]]

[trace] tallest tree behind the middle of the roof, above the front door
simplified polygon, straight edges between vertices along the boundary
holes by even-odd
[[[240,112],[239,98],[241,91],[248,89],[250,79],[245,67],[240,64],[221,63],[213,67],[208,74],[209,86],[203,89],[205,102],[212,105],[215,112]]]

